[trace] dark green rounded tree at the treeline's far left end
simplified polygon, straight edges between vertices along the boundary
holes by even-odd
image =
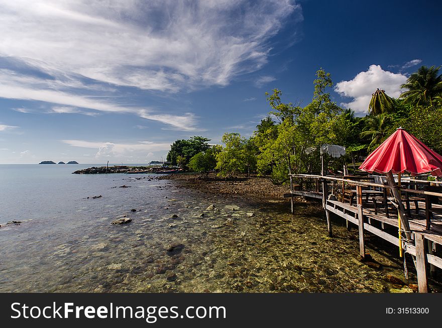
[[[184,167],[190,158],[210,148],[210,145],[207,144],[208,141],[210,139],[199,136],[192,137],[189,140],[177,140],[170,146],[167,160],[172,162],[172,165]]]

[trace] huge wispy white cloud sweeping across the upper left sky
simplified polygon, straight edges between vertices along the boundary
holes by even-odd
[[[227,85],[267,62],[290,0],[106,2],[0,0],[0,56],[81,86],[73,76],[141,89]],[[20,28],[18,28],[20,27]]]

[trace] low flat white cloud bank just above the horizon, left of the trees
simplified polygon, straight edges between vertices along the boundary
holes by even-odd
[[[151,152],[167,151],[170,148],[170,143],[154,143],[150,141],[140,141],[136,144],[119,144],[112,142],[91,142],[84,140],[61,140],[63,143],[73,147],[91,148],[97,152],[95,158],[103,157],[119,157],[130,156],[132,154],[139,154],[146,156]],[[83,155],[88,156],[88,155]]]

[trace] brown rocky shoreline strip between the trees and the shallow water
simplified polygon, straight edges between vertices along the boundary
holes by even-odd
[[[191,188],[214,195],[251,195],[259,198],[283,200],[282,195],[290,191],[288,186],[276,185],[268,177],[239,175],[231,178],[215,178],[214,174],[169,174],[158,177],[159,180],[168,179],[178,182],[178,188]]]

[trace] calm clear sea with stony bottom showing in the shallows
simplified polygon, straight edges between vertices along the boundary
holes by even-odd
[[[0,292],[389,292],[396,249],[298,202],[194,190],[158,174],[0,165]],[[127,186],[127,187],[122,187]],[[95,198],[94,198],[95,197]],[[131,222],[113,225],[119,218]]]

